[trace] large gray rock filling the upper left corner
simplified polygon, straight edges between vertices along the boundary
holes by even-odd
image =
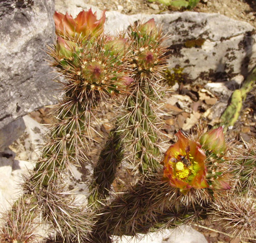
[[[53,0],[0,3],[0,128],[56,100],[45,59],[53,43]]]

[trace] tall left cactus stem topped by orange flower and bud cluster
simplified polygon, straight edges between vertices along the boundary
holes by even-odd
[[[104,36],[104,14],[97,21],[91,10],[80,12],[75,19],[69,14],[56,12],[54,20],[58,39],[56,45],[49,48],[49,55],[54,59],[52,65],[66,78],[62,82],[64,95],[56,105],[56,123],[49,132],[49,142],[43,148],[34,171],[23,185],[25,194],[17,200],[12,211],[14,215],[18,215],[18,206],[25,198],[31,198],[36,206],[24,204],[21,207],[22,215],[36,209],[43,211],[41,216],[48,223],[52,223],[52,229],[56,229],[65,242],[72,242],[75,235],[84,238],[85,220],[80,220],[80,217],[73,218],[76,213],[72,197],[67,197],[67,201],[57,200],[58,195],[65,194],[65,187],[57,185],[64,184],[63,176],[70,164],[79,165],[87,160],[88,142],[93,140],[91,122],[95,120],[95,113],[100,110],[101,101],[126,92],[131,79],[122,65],[127,52],[126,42],[121,37],[118,41],[113,41]],[[63,213],[67,219],[64,215],[60,217]],[[7,215],[12,217],[13,214]],[[13,221],[12,218],[5,220]],[[25,226],[32,225],[33,220],[36,218],[30,217]],[[16,229],[22,229],[19,224],[19,220],[15,221],[13,231],[12,225],[8,227],[9,235],[14,237],[14,241]],[[21,238],[26,237],[26,232],[20,232]],[[3,230],[1,237],[3,240],[6,238]]]

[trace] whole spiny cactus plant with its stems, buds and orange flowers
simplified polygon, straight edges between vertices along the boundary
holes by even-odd
[[[104,33],[104,13],[97,20],[91,10],[75,19],[56,12],[54,20],[57,38],[49,55],[66,79],[63,96],[23,195],[3,216],[1,242],[34,242],[34,228],[46,223],[47,243],[110,243],[113,235],[136,236],[207,217],[254,237],[255,141],[231,146],[222,127],[198,125],[191,136],[178,131],[161,160],[157,103],[167,55],[154,19],[115,38]],[[67,191],[64,177],[72,164],[89,162],[91,124],[108,99],[122,94],[121,115],[93,168],[86,207]],[[114,191],[123,162],[132,165],[134,182]]]

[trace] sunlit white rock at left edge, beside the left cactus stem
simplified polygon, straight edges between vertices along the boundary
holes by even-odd
[[[25,125],[24,133],[10,145],[10,149],[0,153],[0,211],[8,208],[19,196],[22,175],[33,168],[47,132],[46,127],[29,116],[20,119]]]

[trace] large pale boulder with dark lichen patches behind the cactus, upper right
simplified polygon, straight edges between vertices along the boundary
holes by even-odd
[[[256,36],[246,22],[220,14],[174,12],[160,15],[125,16],[109,12],[106,30],[112,34],[138,19],[153,18],[168,35],[169,69],[182,69],[189,81],[229,81],[238,74],[247,76],[256,64]],[[115,28],[113,28],[115,26]]]

